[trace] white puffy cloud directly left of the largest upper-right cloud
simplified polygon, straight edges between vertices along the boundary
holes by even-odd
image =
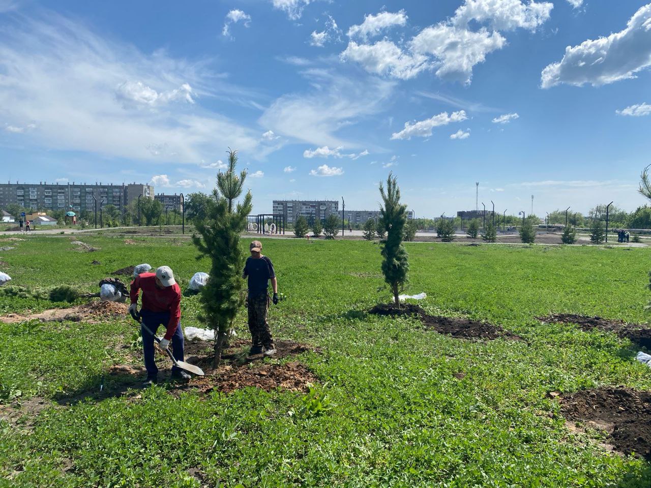
[[[406,53],[389,40],[381,40],[375,44],[357,44],[351,41],[340,54],[340,59],[357,62],[369,73],[390,75],[399,79],[413,78],[432,67],[426,56]]]

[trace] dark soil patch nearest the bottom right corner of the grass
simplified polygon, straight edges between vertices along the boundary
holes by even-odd
[[[608,442],[619,452],[651,461],[651,392],[626,386],[583,390],[562,397],[561,412],[607,431]]]

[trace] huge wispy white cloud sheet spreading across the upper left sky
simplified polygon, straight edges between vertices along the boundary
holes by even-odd
[[[189,103],[195,94],[251,97],[207,70],[206,60],[187,62],[165,51],[145,55],[53,12],[46,21],[24,16],[5,21],[0,120],[38,126],[25,131],[31,146],[191,164],[227,146],[258,151],[258,129]],[[186,103],[169,103],[173,100]],[[165,144],[166,154],[152,154],[150,148]]]

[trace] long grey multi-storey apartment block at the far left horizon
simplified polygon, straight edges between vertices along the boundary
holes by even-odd
[[[115,205],[120,211],[138,198],[153,198],[154,187],[130,183],[113,185],[113,183],[0,183],[0,208],[9,204],[19,204],[31,210],[72,210],[80,212],[94,210],[95,202],[98,207]]]

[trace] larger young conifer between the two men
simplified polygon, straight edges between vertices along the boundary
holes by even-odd
[[[215,366],[221,361],[221,351],[244,300],[242,269],[247,254],[240,247],[240,234],[251,213],[251,191],[236,202],[242,195],[247,172],[237,174],[237,152],[229,148],[228,153],[229,168],[217,173],[217,188],[206,208],[206,219],[195,221],[200,236],[192,236],[199,250],[197,259],[208,256],[212,261],[210,279],[201,291],[201,305],[204,322],[215,331]]]

